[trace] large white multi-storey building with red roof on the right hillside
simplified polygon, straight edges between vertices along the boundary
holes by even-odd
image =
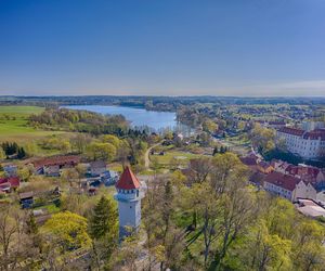
[[[284,143],[287,151],[304,159],[316,159],[325,156],[325,129],[302,130],[290,127],[281,128],[277,143]]]

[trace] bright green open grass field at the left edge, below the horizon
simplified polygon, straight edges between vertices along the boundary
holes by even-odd
[[[28,127],[28,116],[30,114],[40,114],[43,111],[43,107],[38,106],[0,106],[0,142],[16,141],[25,143],[50,134],[63,133]]]

